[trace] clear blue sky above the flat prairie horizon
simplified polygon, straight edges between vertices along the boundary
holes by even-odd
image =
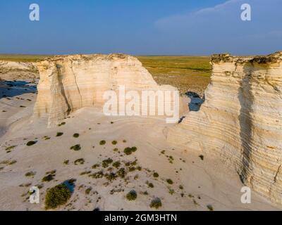
[[[252,21],[240,20],[243,3]],[[1,0],[0,53],[267,54],[282,51],[281,10],[282,0]]]

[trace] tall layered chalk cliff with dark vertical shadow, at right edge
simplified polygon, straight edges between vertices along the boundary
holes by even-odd
[[[282,52],[212,56],[205,102],[168,140],[234,165],[244,184],[282,204]]]

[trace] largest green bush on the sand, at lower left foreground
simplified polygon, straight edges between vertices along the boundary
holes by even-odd
[[[55,209],[60,205],[65,205],[71,198],[71,191],[66,184],[59,184],[50,188],[45,197],[45,209]]]

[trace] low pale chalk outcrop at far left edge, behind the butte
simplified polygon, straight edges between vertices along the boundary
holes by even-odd
[[[37,78],[39,78],[39,73],[35,63],[0,60],[0,79],[25,80]]]

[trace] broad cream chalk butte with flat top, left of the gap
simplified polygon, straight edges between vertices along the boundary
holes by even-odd
[[[83,107],[102,107],[105,91],[176,90],[159,86],[137,58],[122,54],[56,56],[37,63],[40,80],[35,117],[58,123]]]

